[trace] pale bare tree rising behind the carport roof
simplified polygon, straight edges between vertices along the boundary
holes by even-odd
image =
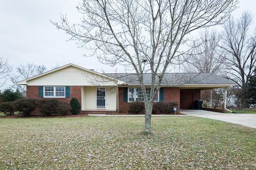
[[[185,72],[219,73],[223,69],[224,58],[220,55],[220,37],[214,30],[200,32],[199,40],[194,41],[188,61],[184,64]]]

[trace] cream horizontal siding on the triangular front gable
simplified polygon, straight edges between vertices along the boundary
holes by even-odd
[[[115,86],[116,81],[86,72],[74,66],[29,80],[28,86]]]

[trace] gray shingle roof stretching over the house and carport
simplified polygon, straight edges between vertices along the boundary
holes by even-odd
[[[135,73],[105,73],[109,77],[119,79],[131,85],[139,84]],[[158,80],[158,79],[157,79]],[[156,80],[156,81],[157,81]],[[143,75],[144,84],[151,84],[151,74]],[[162,84],[234,84],[230,80],[212,73],[165,73]]]

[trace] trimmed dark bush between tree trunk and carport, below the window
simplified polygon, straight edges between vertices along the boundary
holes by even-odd
[[[177,102],[155,102],[153,104],[152,114],[171,114],[173,113],[173,107],[177,107]]]

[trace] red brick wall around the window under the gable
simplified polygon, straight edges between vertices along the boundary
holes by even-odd
[[[70,86],[70,97],[69,98],[54,98],[54,99],[59,99],[61,101],[67,101],[69,102],[71,98],[77,98],[81,105],[82,101],[82,87],[81,86]],[[34,99],[39,99],[38,95],[38,86],[27,86],[27,98],[34,98]]]

